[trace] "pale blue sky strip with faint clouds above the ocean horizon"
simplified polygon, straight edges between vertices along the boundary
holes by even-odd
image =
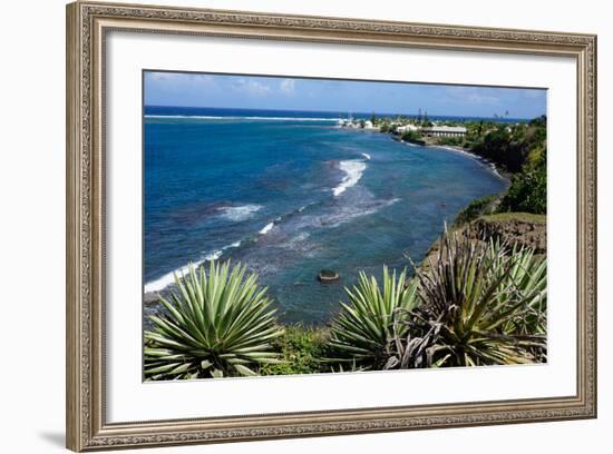
[[[546,90],[145,72],[145,105],[534,118]]]

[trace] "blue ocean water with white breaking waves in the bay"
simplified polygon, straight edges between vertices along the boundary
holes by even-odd
[[[445,220],[507,185],[468,155],[339,128],[346,117],[146,107],[145,293],[168,290],[188,263],[231,259],[260,276],[283,322],[324,324],[360,270],[421,260]],[[320,284],[324,268],[340,280]]]

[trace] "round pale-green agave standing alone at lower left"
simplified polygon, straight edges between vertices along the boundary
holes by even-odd
[[[166,314],[150,316],[145,332],[147,379],[256,375],[257,367],[278,361],[270,342],[283,334],[266,288],[245,277],[240,264],[211,261],[208,273],[189,266],[177,293],[159,297]]]

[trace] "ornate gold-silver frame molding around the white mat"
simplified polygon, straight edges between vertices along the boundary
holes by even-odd
[[[565,56],[577,70],[577,388],[572,396],[107,423],[105,105],[109,30]],[[67,6],[67,447],[340,435],[596,416],[596,37],[458,26],[76,2]]]

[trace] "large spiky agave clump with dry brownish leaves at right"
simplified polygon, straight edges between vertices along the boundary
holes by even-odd
[[[546,263],[531,249],[445,231],[436,260],[416,274],[421,304],[396,323],[386,368],[543,361]]]

